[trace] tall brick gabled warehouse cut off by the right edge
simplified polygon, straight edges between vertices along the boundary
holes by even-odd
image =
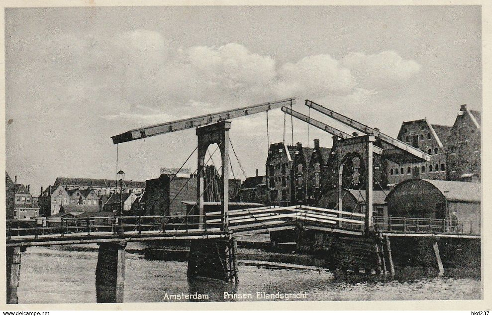
[[[461,105],[448,136],[449,180],[480,181],[481,123],[480,111]]]

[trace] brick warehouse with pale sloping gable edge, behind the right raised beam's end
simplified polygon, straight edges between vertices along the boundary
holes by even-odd
[[[427,119],[403,122],[397,139],[431,156],[431,161],[396,164],[388,161],[390,184],[408,179],[447,179],[447,143],[451,127],[430,124]]]

